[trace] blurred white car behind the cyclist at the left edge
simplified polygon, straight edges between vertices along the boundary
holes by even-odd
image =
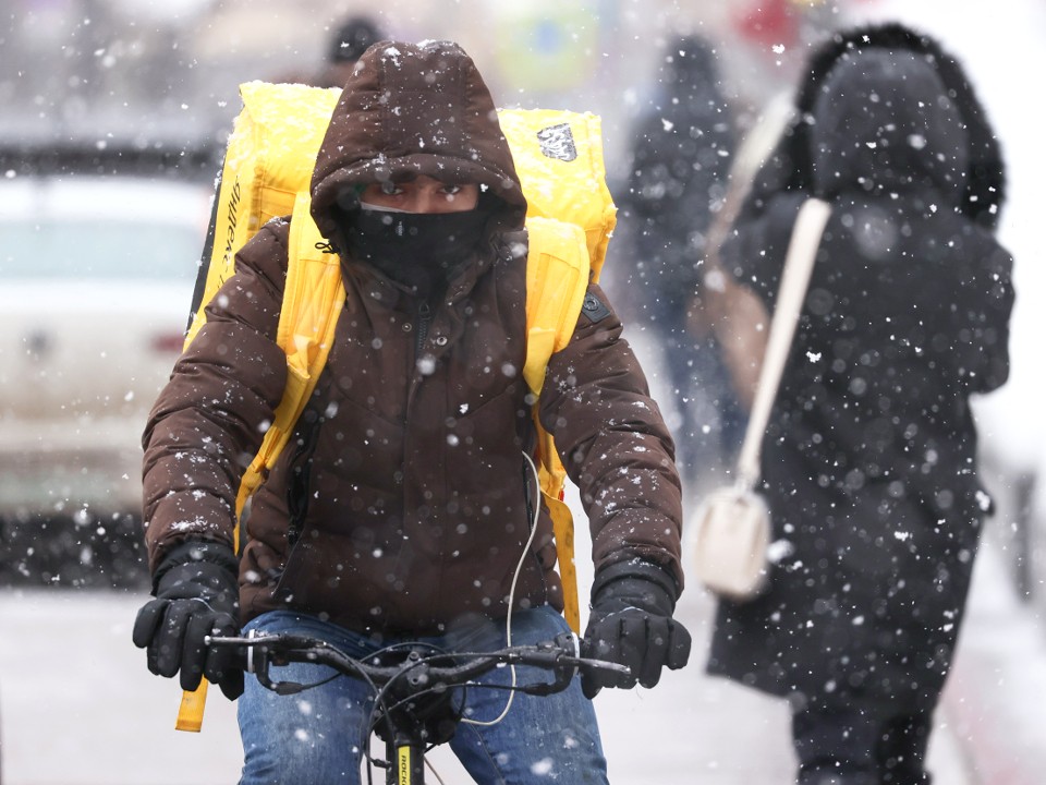
[[[210,197],[0,172],[0,518],[139,516],[141,435],[182,347]]]

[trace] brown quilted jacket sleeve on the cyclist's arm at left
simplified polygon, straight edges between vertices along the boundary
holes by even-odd
[[[236,273],[174,366],[143,435],[149,566],[187,540],[233,542],[240,479],[287,381],[273,341],[287,269],[285,225],[270,222],[236,256]]]

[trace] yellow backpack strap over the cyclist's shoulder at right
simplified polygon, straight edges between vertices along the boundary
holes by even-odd
[[[554,352],[570,341],[588,289],[589,261],[584,230],[575,224],[531,217],[526,221],[530,253],[526,257],[526,361],[523,377],[535,398],[545,384]],[[552,518],[559,575],[563,582],[563,615],[574,632],[581,631],[577,572],[574,567],[574,526],[563,502],[567,470],[559,460],[551,434],[542,427],[538,403],[533,408],[537,428],[538,484]]]

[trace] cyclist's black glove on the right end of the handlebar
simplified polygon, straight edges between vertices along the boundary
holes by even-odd
[[[628,665],[630,675],[581,668],[581,688],[595,698],[603,687],[653,687],[661,668],[690,659],[690,632],[672,618],[679,590],[657,565],[618,563],[596,573],[582,654]]]

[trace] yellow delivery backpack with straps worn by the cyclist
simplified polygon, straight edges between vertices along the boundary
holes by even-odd
[[[287,445],[323,371],[345,292],[340,261],[309,213],[309,182],[340,90],[250,82],[229,138],[203,268],[193,298],[187,347],[206,321],[205,306],[234,273],[234,257],[270,218],[291,216],[288,277],[277,342],[287,353],[288,384],[257,456],[241,480],[238,519]],[[499,110],[527,201],[527,347],[523,376],[535,398],[551,354],[571,338],[589,281],[603,268],[616,224],[606,184],[600,120],[559,110]],[[567,472],[537,420],[538,479],[552,517],[564,615],[580,627],[573,522],[563,503]],[[236,530],[239,538],[239,526]],[[239,551],[239,542],[236,543]],[[206,681],[186,692],[179,729],[198,730]]]

